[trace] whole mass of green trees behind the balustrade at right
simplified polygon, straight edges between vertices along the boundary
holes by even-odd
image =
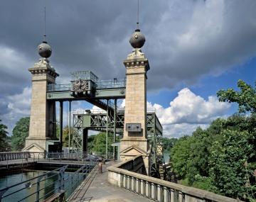
[[[218,97],[238,103],[240,113],[180,138],[171,148],[171,164],[183,184],[255,201],[256,91],[241,80],[238,86],[241,91],[221,90]]]

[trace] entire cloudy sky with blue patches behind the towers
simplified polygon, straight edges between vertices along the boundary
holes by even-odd
[[[45,5],[58,83],[80,70],[100,79],[125,77],[122,61],[132,51],[137,0],[1,0],[0,119],[10,134],[16,121],[29,115],[28,68],[39,59]],[[191,134],[237,111],[215,95],[218,89],[236,89],[238,79],[255,84],[255,11],[255,0],[140,0],[142,50],[151,66],[148,106],[156,108],[165,136]]]

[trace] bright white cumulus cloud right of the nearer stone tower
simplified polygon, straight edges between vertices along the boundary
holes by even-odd
[[[121,106],[125,106],[125,100]],[[147,108],[155,108],[156,115],[164,128],[165,136],[181,137],[191,135],[199,126],[207,128],[210,122],[225,117],[230,103],[219,102],[217,97],[209,96],[208,100],[197,96],[190,89],[184,88],[178,96],[164,108],[158,103],[147,102]]]

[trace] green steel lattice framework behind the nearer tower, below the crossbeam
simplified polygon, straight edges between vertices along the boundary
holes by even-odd
[[[108,121],[107,121],[108,120]],[[76,129],[75,135],[73,135],[73,149],[82,150],[82,134],[86,128],[88,130],[95,130],[114,133],[114,124],[116,124],[117,134],[121,135],[124,132],[124,110],[117,110],[116,122],[114,123],[113,113],[107,113],[104,111],[97,112],[73,112],[73,126]],[[107,125],[108,124],[108,125]],[[108,126],[108,127],[107,127]],[[148,112],[146,114],[146,127],[147,138],[151,145],[151,174],[157,175],[164,179],[165,169],[164,156],[162,150],[162,138],[163,128],[155,112]]]

